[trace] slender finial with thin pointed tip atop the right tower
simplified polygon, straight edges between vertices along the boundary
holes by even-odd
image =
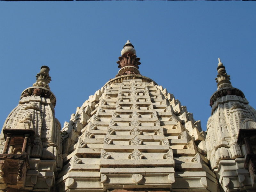
[[[216,83],[218,83],[217,84],[218,90],[223,87],[232,87],[231,82],[229,81],[230,75],[226,73],[226,68],[223,65],[223,63],[221,63],[220,58],[219,58],[217,70],[218,70],[218,75],[217,75],[217,78],[215,78],[215,80],[216,80]]]

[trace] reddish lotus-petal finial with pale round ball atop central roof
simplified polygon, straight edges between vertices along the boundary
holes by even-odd
[[[140,74],[140,71],[138,70],[139,65],[141,64],[139,62],[140,58],[137,58],[134,46],[129,40],[124,45],[121,55],[121,57],[118,57],[119,61],[116,62],[118,64],[118,68],[121,68],[117,76]]]

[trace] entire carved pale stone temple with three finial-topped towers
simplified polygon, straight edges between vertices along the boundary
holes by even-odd
[[[206,132],[140,74],[130,41],[118,59],[116,77],[62,129],[41,67],[0,134],[0,192],[256,191],[256,111],[220,59]]]

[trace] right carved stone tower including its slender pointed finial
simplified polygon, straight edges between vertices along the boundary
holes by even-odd
[[[217,70],[218,90],[210,99],[212,116],[207,123],[207,159],[224,191],[255,191],[256,111],[244,93],[231,85],[220,58]]]

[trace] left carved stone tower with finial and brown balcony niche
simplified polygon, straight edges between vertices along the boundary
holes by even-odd
[[[54,191],[62,168],[61,125],[54,116],[50,68],[42,66],[36,83],[21,94],[0,135],[0,189]]]

